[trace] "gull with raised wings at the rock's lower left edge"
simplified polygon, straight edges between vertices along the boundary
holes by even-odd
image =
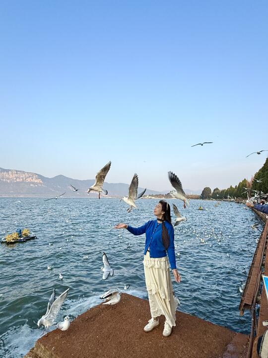
[[[58,298],[55,299],[55,288],[54,288],[53,293],[50,296],[50,299],[48,302],[47,312],[37,322],[37,326],[39,328],[40,328],[40,325],[45,326],[45,331],[47,329],[47,333],[48,333],[49,327],[56,324],[55,319],[58,316],[61,306],[67,297],[68,290],[69,290],[69,288],[67,288],[66,291],[64,291]],[[45,333],[45,331],[44,331],[44,333]]]

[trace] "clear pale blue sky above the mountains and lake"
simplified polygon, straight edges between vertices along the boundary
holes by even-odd
[[[0,167],[192,190],[268,152],[268,2],[0,1]],[[191,147],[204,141],[212,144]]]

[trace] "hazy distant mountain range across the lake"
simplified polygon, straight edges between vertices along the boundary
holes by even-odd
[[[87,194],[87,189],[93,185],[95,179],[78,180],[58,175],[54,178],[43,177],[37,173],[18,171],[14,169],[0,168],[0,196],[54,196],[66,191],[69,197],[96,197],[97,193]],[[71,190],[70,184],[74,185],[78,191]],[[128,194],[129,184],[104,182],[103,187],[108,190],[108,196],[119,197]],[[139,187],[138,192],[143,188]],[[146,190],[146,194],[161,194],[167,191]],[[191,190],[185,190],[188,194]],[[198,190],[200,193],[201,190]],[[193,194],[197,190],[192,191]]]

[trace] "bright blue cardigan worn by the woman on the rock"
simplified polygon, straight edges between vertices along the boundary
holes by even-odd
[[[149,250],[150,250],[151,258],[165,257],[167,256],[168,253],[171,269],[176,269],[174,229],[173,226],[167,221],[165,221],[165,226],[167,228],[169,240],[170,240],[167,252],[162,243],[162,224],[158,224],[157,220],[150,220],[138,228],[134,228],[129,225],[127,229],[129,230],[129,232],[131,232],[134,235],[142,235],[145,233],[146,240],[145,240],[144,255],[146,254],[148,247],[150,247]]]

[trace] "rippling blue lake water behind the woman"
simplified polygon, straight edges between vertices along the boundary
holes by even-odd
[[[179,310],[249,333],[249,313],[240,316],[238,311],[239,286],[246,281],[261,234],[251,228],[259,218],[233,202],[215,207],[215,201],[191,200],[190,208],[184,209],[181,201],[168,201],[187,216],[186,223],[175,227],[182,282],[173,287],[181,302]],[[124,291],[125,283],[131,285],[128,293],[147,298],[142,265],[145,236],[113,226],[118,222],[139,226],[154,219],[157,202],[139,199],[138,210],[128,214],[118,199],[1,198],[0,238],[27,227],[38,239],[0,245],[0,357],[23,357],[34,346],[42,333],[35,322],[46,312],[54,287],[57,294],[70,288],[58,321],[99,304],[99,295],[110,288]],[[205,210],[198,210],[200,205]],[[105,281],[102,251],[115,272]],[[48,270],[48,265],[54,268]]]

